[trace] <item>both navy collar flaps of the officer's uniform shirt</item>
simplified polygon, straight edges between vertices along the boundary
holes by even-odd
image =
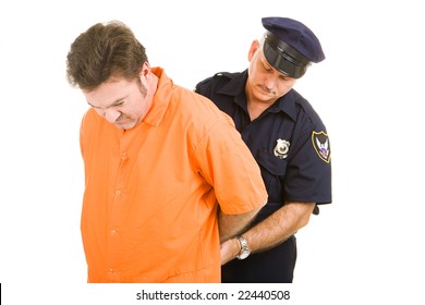
[[[230,81],[220,88],[219,94],[234,96],[234,102],[246,109],[246,95],[245,95],[245,84],[247,81],[247,69],[242,73],[229,74]],[[294,90],[291,89],[288,94],[280,97],[271,107],[268,108],[267,112],[284,112],[292,120],[296,120],[296,109],[295,109],[295,96]]]

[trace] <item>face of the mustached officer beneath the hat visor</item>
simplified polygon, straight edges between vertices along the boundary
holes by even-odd
[[[259,100],[275,102],[296,83],[295,78],[280,73],[268,63],[257,40],[251,46],[248,60],[248,89]]]

